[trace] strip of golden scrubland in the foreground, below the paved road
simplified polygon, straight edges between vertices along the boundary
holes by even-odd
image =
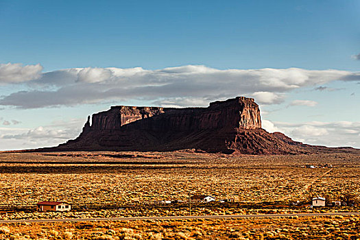
[[[3,224],[2,239],[359,239],[360,217]]]

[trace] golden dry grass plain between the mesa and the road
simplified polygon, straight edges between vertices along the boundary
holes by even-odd
[[[276,201],[289,204],[296,200],[309,201],[314,195],[333,200],[340,200],[346,193],[352,193],[357,200],[360,197],[360,160],[355,154],[228,156],[193,152],[82,152],[52,155],[0,154],[0,210],[26,212],[8,213],[7,217],[2,214],[3,219],[187,215],[186,204],[162,208],[142,204],[154,200],[186,201],[190,191],[241,202],[195,205],[193,214],[250,213],[246,207],[249,204]],[[307,163],[331,164],[335,168],[319,178],[329,169],[300,167]],[[308,188],[310,182],[314,183]],[[43,200],[69,202],[75,211],[27,213]],[[88,210],[84,210],[85,206]],[[99,211],[100,208],[104,211]],[[255,212],[286,211],[305,210],[284,207]]]

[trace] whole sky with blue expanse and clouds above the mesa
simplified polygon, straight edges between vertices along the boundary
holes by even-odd
[[[0,0],[0,150],[113,105],[254,97],[263,128],[360,148],[360,1]]]

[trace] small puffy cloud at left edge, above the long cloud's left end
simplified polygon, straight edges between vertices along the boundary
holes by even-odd
[[[35,80],[40,77],[43,67],[40,64],[25,65],[21,63],[0,64],[0,84],[12,84]]]

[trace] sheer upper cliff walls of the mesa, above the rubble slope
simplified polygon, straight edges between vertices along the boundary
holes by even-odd
[[[142,121],[139,126],[154,131],[193,131],[212,128],[261,128],[259,106],[254,99],[237,97],[216,101],[208,108],[159,108],[112,106],[93,115],[91,130],[121,130],[124,125]]]

